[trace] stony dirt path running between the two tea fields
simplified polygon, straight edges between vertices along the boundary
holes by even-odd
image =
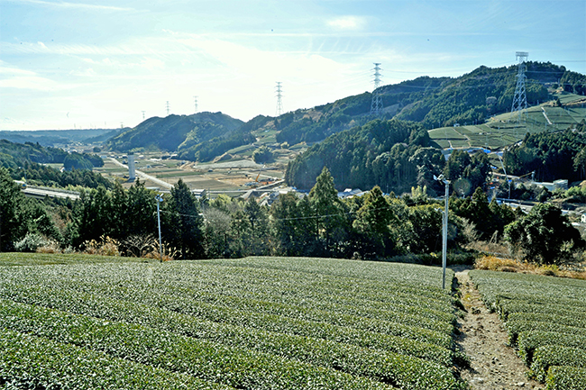
[[[471,359],[471,367],[462,371],[472,390],[543,389],[527,379],[526,366],[514,349],[507,346],[504,331],[496,313],[489,313],[478,290],[472,285],[468,270],[456,272],[466,315],[458,326],[462,332],[458,346]]]

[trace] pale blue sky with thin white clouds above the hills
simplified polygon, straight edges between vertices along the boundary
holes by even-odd
[[[517,51],[586,74],[586,1],[0,0],[0,130],[248,121],[277,82],[284,113]]]

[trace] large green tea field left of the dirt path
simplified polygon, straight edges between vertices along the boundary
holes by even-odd
[[[465,388],[438,268],[35,256],[0,260],[9,388]]]

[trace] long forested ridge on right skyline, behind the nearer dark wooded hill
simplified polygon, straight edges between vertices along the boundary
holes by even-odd
[[[581,95],[586,76],[552,63],[526,63],[527,102],[548,99],[546,85],[561,83],[568,92]],[[421,122],[426,129],[456,122],[482,122],[495,113],[510,110],[517,83],[517,66],[480,67],[461,77],[418,77],[396,85],[381,86],[380,119]],[[360,126],[371,120],[372,94],[348,96],[334,103],[285,113],[275,120],[277,141],[293,145],[314,142]],[[254,129],[252,129],[254,131]]]

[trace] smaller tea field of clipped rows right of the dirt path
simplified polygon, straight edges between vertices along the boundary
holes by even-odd
[[[469,275],[505,322],[529,376],[548,389],[586,388],[586,281],[478,270]]]

